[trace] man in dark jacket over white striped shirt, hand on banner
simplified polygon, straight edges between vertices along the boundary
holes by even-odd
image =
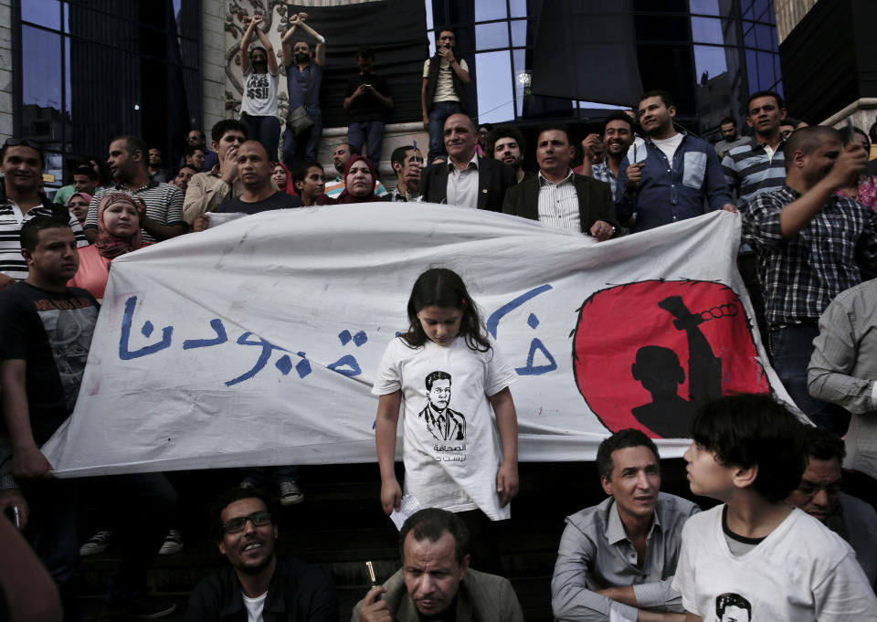
[[[539,132],[539,174],[509,189],[502,212],[590,234],[602,242],[618,231],[612,190],[592,177],[573,173],[569,168],[573,153],[565,128],[548,127]]]

